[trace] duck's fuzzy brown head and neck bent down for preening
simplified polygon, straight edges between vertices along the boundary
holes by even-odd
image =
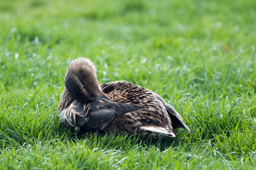
[[[90,103],[98,97],[106,96],[98,83],[94,64],[83,57],[73,60],[68,66],[65,87],[74,99],[82,103]]]

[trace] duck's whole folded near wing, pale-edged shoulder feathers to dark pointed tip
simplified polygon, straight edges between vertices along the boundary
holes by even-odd
[[[82,131],[100,131],[115,118],[140,108],[137,104],[115,103],[104,98],[95,99],[88,104],[75,100],[61,111],[60,120],[72,127],[82,127]]]

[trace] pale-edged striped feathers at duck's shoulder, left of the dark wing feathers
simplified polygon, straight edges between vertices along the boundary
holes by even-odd
[[[61,111],[60,120],[72,127],[81,127],[89,120],[90,108],[90,104],[79,103],[75,100],[68,108]]]

